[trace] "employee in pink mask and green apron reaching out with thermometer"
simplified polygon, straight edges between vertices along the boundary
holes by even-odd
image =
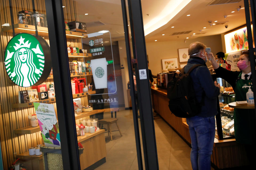
[[[207,54],[207,58],[212,61],[213,69],[217,74],[217,77],[225,79],[234,89],[235,100],[245,101],[248,88],[242,88],[243,86],[251,86],[251,67],[249,60],[249,52],[243,52],[239,57],[237,66],[240,71],[229,71],[220,67],[212,53]],[[253,88],[251,88],[253,90]],[[246,145],[246,152],[250,165],[255,158],[255,110],[254,109],[234,109],[234,129],[235,139],[238,143]],[[254,143],[254,145],[253,145]]]

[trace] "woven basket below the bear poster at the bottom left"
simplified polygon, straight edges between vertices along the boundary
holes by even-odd
[[[44,170],[63,170],[61,148],[40,146],[43,155]],[[79,155],[83,153],[83,148],[78,148]],[[45,160],[47,158],[47,160]]]

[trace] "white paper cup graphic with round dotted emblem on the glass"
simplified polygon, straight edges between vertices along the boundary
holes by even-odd
[[[106,58],[91,60],[91,71],[96,89],[107,88],[107,65]]]

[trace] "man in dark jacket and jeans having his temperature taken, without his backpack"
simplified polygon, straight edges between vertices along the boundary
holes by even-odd
[[[190,44],[188,54],[190,56],[184,73],[191,71],[189,76],[192,79],[195,98],[199,111],[195,116],[187,117],[189,133],[191,138],[190,159],[193,170],[210,170],[211,154],[213,151],[215,137],[215,118],[217,112],[217,97],[220,92],[220,85],[213,82],[210,71],[206,66],[206,46],[203,43],[195,42]]]

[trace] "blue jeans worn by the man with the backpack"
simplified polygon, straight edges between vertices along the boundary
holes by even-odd
[[[211,154],[215,137],[215,118],[187,118],[191,138],[190,160],[193,170],[210,170]]]

